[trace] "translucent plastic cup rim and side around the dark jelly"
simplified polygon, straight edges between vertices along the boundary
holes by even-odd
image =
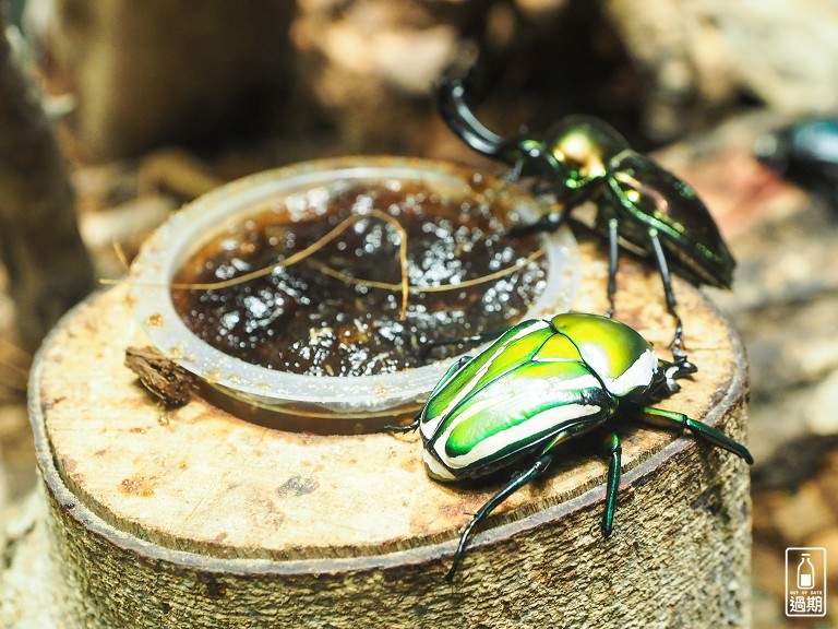
[[[268,425],[322,434],[371,431],[415,413],[451,365],[451,359],[397,372],[320,377],[260,367],[230,356],[196,336],[172,305],[170,284],[181,266],[225,225],[241,222],[284,200],[289,212],[304,200],[361,183],[419,183],[439,194],[501,191],[511,213],[532,221],[544,207],[527,192],[471,168],[400,157],[344,157],[307,162],[260,173],[204,194],[164,223],[131,265],[133,311],[151,342],[200,379],[213,403]],[[300,203],[296,203],[299,200]],[[576,245],[568,229],[542,237],[547,281],[525,318],[570,307],[578,281]],[[479,349],[474,349],[475,353]]]

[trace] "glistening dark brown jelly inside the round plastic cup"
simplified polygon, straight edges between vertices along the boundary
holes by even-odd
[[[351,214],[394,216],[408,236],[411,287],[456,284],[525,262],[536,237],[512,239],[501,201],[442,198],[414,183],[357,185],[326,200],[307,197],[298,219],[284,204],[213,238],[173,278],[215,283],[276,265],[312,245]],[[475,286],[402,294],[336,278],[323,264],[358,280],[399,284],[399,236],[376,217],[354,223],[303,261],[225,288],[172,288],[184,323],[210,345],[271,369],[310,376],[369,376],[418,367],[462,352],[465,336],[515,323],[543,288],[544,258]],[[435,344],[435,345],[434,345]],[[429,347],[434,345],[434,351]]]

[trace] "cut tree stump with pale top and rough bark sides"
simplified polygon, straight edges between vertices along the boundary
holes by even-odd
[[[604,312],[607,261],[579,246],[574,309]],[[699,367],[661,407],[742,440],[739,337],[675,284]],[[119,286],[43,348],[32,418],[70,627],[746,627],[746,465],[626,428],[615,529],[607,463],[582,447],[507,500],[443,580],[469,513],[501,480],[428,478],[418,435],[325,436],[249,423],[201,397],[155,404],[123,366],[143,344]],[[616,318],[667,356],[657,274],[621,263]]]

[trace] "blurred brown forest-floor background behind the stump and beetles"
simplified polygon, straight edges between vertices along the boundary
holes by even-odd
[[[502,173],[447,130],[432,98],[448,64],[478,60],[490,128],[599,116],[709,206],[739,260],[733,292],[710,297],[751,360],[754,627],[835,626],[835,601],[826,618],[783,614],[790,546],[827,548],[838,596],[835,173],[809,165],[814,177],[783,178],[754,146],[773,151],[775,130],[838,116],[838,2],[0,0],[0,601],[36,484],[27,370],[61,313],[97,278],[119,277],[172,210],[250,173],[376,153]],[[835,169],[838,133],[824,139]]]

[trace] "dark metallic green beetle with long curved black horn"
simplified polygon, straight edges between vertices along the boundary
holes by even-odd
[[[684,181],[649,157],[632,151],[609,124],[589,116],[561,120],[543,138],[503,138],[487,129],[466,103],[462,80],[440,83],[444,120],[471,149],[514,166],[513,177],[547,182],[555,210],[513,235],[554,230],[568,212],[597,203],[597,230],[609,241],[609,314],[614,311],[618,246],[654,258],[663,283],[667,308],[675,320],[673,354],[683,357],[683,325],[672,292],[669,261],[695,285],[729,288],[735,262],[707,207]]]

